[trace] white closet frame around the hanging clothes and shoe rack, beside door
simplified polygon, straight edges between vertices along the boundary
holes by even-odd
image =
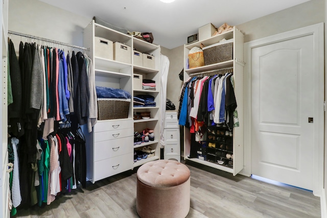
[[[200,47],[201,43],[205,46],[218,43],[222,39],[233,39],[233,58],[232,60],[214,63],[211,65],[205,65],[201,67],[196,67],[192,69],[186,69],[186,59],[188,59],[189,51],[194,47]],[[211,38],[198,41],[192,44],[184,45],[184,82],[190,79],[191,74],[197,72],[204,72],[208,70],[222,69],[226,67],[233,67],[233,74],[235,77],[235,96],[237,101],[237,110],[239,116],[240,126],[233,128],[233,166],[227,167],[225,165],[220,165],[218,163],[213,163],[198,158],[189,158],[191,150],[191,133],[188,128],[184,128],[184,159],[191,160],[194,162],[201,163],[203,165],[211,166],[222,171],[232,173],[234,176],[238,174],[244,166],[244,100],[243,100],[243,80],[244,80],[244,62],[243,62],[243,47],[244,36],[240,30],[236,27],[233,27],[232,30],[225,33],[213,36]]]

